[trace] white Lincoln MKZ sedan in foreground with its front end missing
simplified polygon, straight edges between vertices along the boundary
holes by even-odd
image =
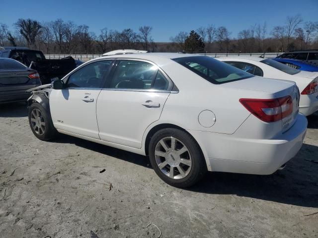
[[[37,138],[58,131],[149,155],[159,177],[178,187],[206,171],[272,174],[296,155],[307,128],[294,82],[205,56],[101,57],[49,86],[28,100]]]

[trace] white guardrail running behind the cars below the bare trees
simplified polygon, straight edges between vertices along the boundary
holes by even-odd
[[[252,56],[252,57],[260,57],[264,55],[265,58],[275,58],[282,53],[238,53],[238,54],[227,54],[227,53],[207,53],[207,54],[195,54],[195,55],[200,55],[200,56],[211,56],[211,57],[231,57],[231,56]],[[67,55],[67,54],[61,54],[61,55],[45,55],[46,59],[62,59],[68,56],[72,56],[76,60],[91,60],[95,59],[98,57],[101,57],[102,55]]]

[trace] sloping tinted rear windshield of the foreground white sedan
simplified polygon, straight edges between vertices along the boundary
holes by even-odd
[[[182,57],[172,60],[214,84],[254,77],[250,73],[207,56]]]

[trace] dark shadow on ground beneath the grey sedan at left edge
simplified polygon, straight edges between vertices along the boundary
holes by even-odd
[[[0,118],[23,118],[27,116],[26,102],[0,104]]]

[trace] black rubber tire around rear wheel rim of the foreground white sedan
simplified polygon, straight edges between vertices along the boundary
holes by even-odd
[[[192,166],[190,168],[190,172],[188,172],[188,174],[184,178],[181,178],[181,179],[169,178],[167,175],[165,175],[161,171],[161,169],[158,166],[158,163],[156,161],[156,156],[155,156],[156,146],[161,139],[166,137],[174,137],[179,142],[182,142],[188,149],[188,152],[186,153],[189,153],[191,156]],[[180,188],[190,187],[196,182],[198,182],[200,179],[202,179],[202,177],[207,172],[207,166],[206,166],[202,151],[200,149],[200,146],[190,134],[180,129],[165,128],[165,129],[161,129],[157,131],[150,140],[149,158],[150,158],[151,165],[153,169],[155,170],[156,174],[159,176],[159,178],[174,187],[180,187]],[[163,156],[162,156],[162,159],[167,160],[167,159],[164,159]],[[168,164],[167,168],[169,167],[170,165]],[[163,170],[165,169],[166,167],[163,168]],[[172,177],[174,177],[173,173],[172,173]]]

